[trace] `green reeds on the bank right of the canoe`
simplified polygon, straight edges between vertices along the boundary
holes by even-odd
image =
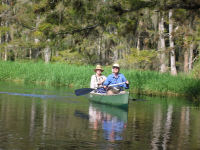
[[[200,95],[200,80],[153,71],[127,71],[124,73],[137,93],[148,95]]]

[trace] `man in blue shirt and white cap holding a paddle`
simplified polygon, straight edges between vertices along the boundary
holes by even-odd
[[[104,88],[107,90],[107,94],[118,94],[121,91],[123,91],[123,88],[125,89],[129,89],[129,82],[128,80],[126,80],[125,76],[121,73],[119,73],[120,71],[120,66],[119,64],[113,64],[112,66],[112,74],[110,74],[106,81],[103,83]],[[120,84],[123,83],[124,84]],[[118,84],[115,86],[110,86],[109,85],[113,85],[113,84]]]

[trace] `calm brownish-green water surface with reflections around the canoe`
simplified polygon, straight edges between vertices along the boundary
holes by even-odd
[[[143,97],[128,110],[73,90],[0,82],[0,150],[200,149],[200,107]]]

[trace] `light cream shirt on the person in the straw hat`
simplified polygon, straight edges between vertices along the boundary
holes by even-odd
[[[91,81],[90,81],[90,88],[93,88],[93,89],[98,88],[100,86],[100,84],[98,83],[102,83],[105,80],[106,80],[106,76],[104,75],[101,75],[101,76],[92,75]]]

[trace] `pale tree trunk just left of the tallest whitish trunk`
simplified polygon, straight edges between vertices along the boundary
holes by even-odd
[[[165,37],[164,37],[164,17],[161,16],[160,22],[159,22],[159,38],[160,38],[160,44],[158,49],[160,50],[160,72],[164,73],[167,71],[167,65],[166,65],[166,46],[165,46]]]

